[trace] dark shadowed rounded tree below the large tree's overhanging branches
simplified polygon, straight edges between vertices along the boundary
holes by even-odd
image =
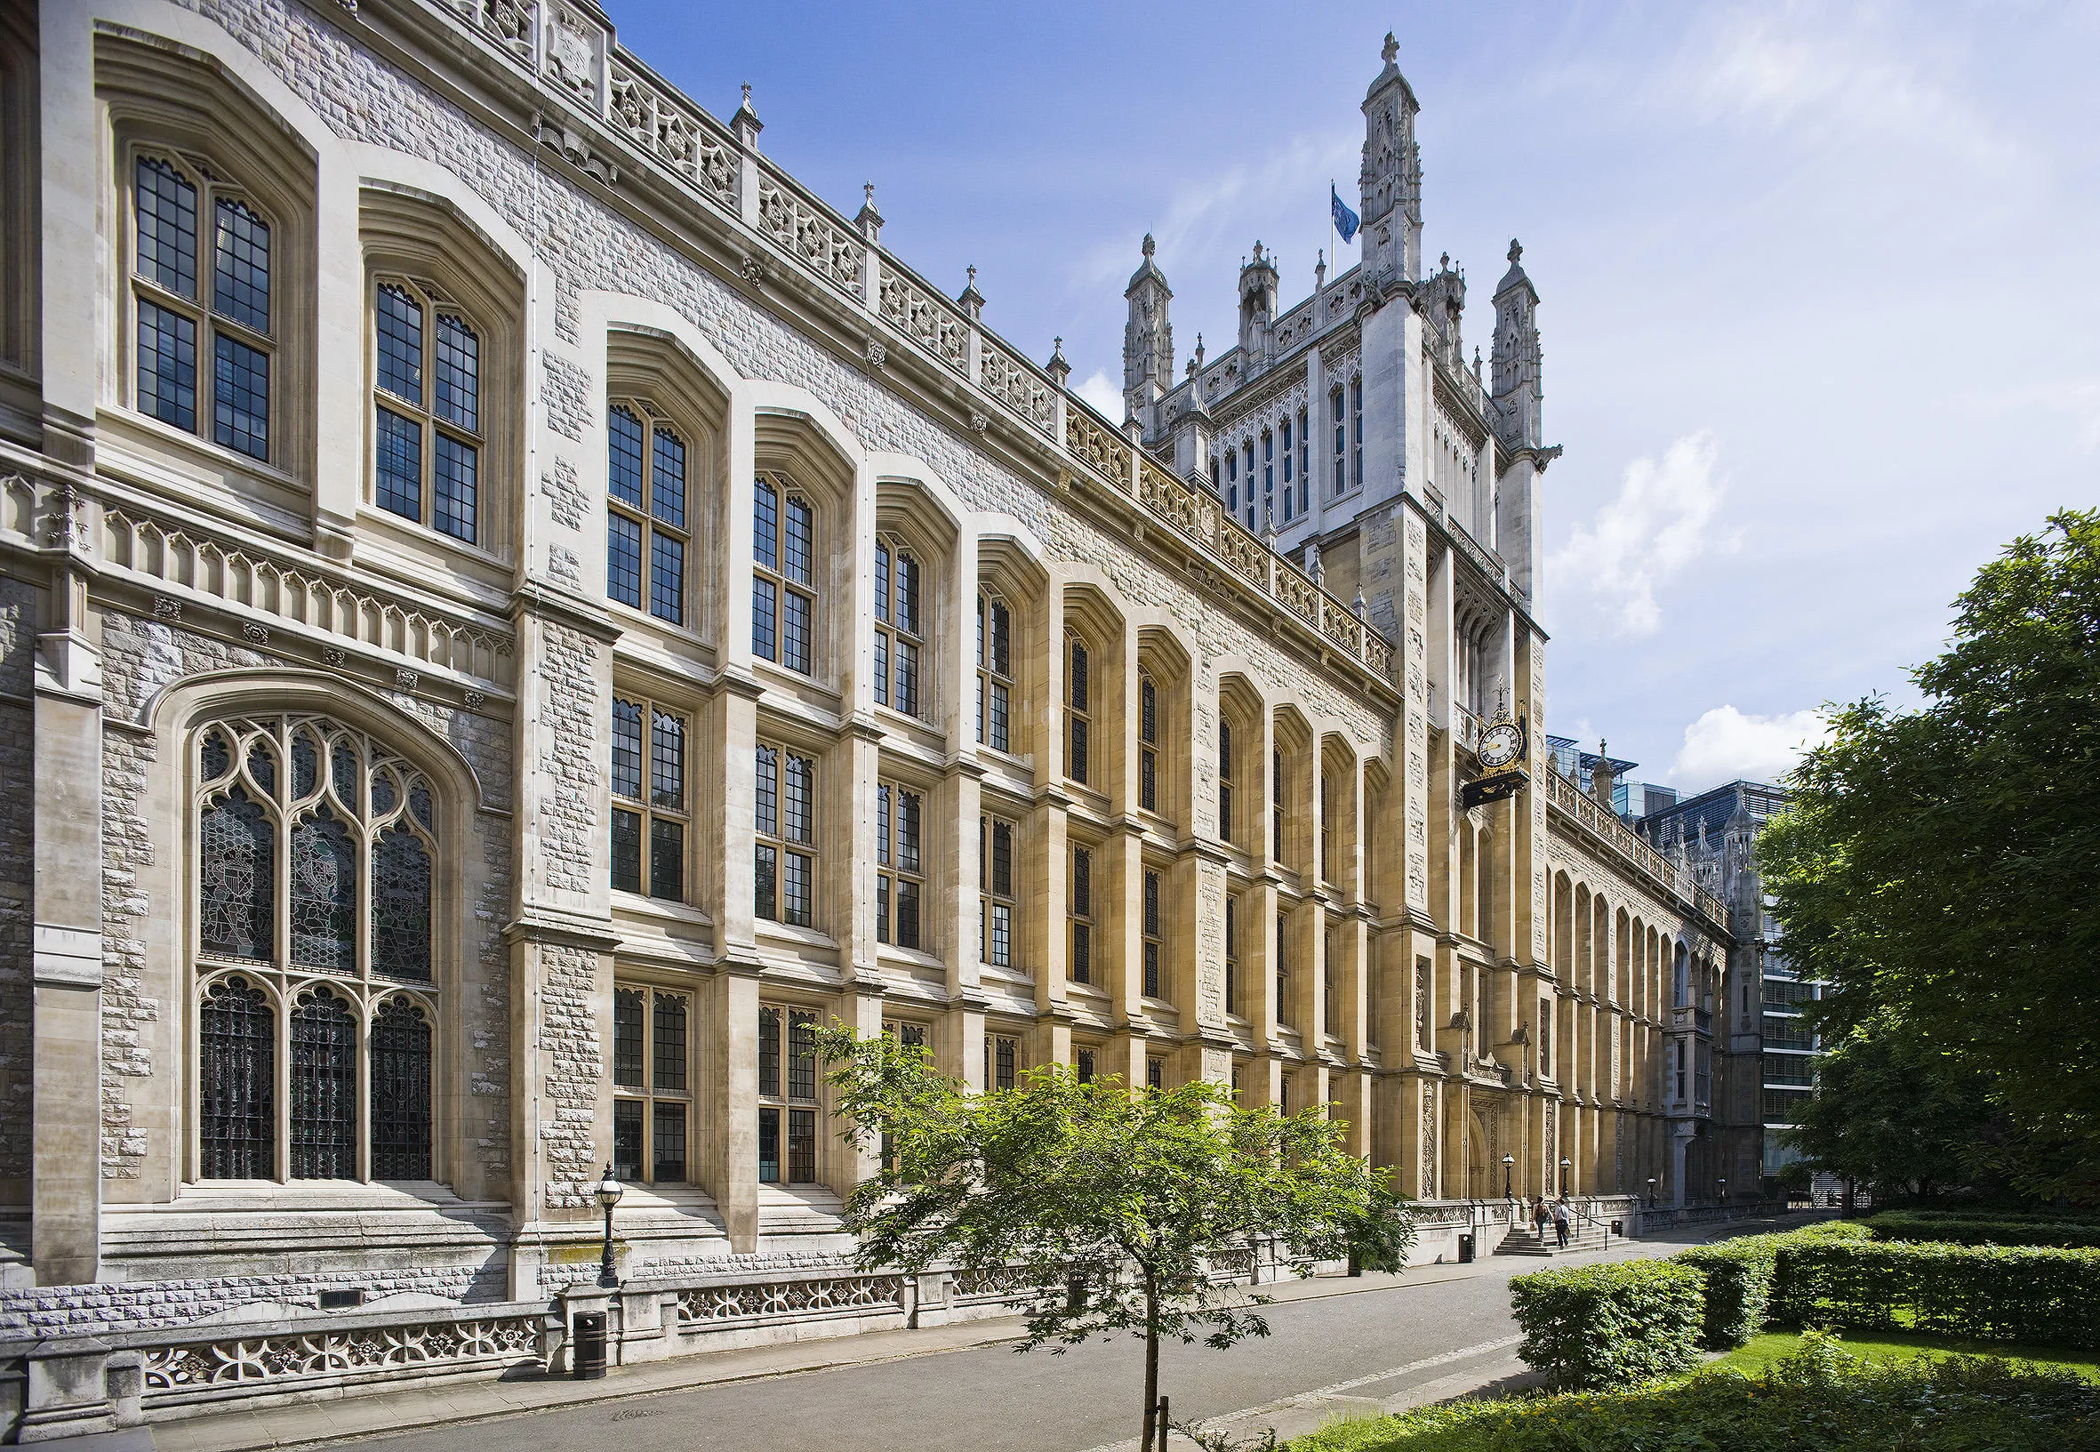
[[[1816,1093],[1787,1133],[1814,1168],[1884,1194],[1930,1196],[1970,1179],[1974,1145],[1995,1122],[1989,1080],[1951,1067],[1886,1013],[1825,1042]]]

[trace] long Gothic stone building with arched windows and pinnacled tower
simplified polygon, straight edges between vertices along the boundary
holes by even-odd
[[[0,6],[0,1328],[544,1297],[607,1162],[628,1278],[836,1259],[834,1017],[1699,1194],[1726,914],[1539,756],[1535,292],[1483,382],[1363,113],[1361,261],[1180,385],[1140,269],[1119,424],[588,2]]]

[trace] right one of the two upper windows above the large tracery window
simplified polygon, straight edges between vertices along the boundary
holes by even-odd
[[[430,284],[372,286],[372,502],[472,544],[481,530],[481,334]]]

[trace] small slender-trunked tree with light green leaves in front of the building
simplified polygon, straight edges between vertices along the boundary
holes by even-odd
[[[846,1198],[867,1267],[1012,1267],[1029,1288],[1029,1351],[1094,1334],[1144,1341],[1144,1433],[1153,1448],[1159,1343],[1214,1349],[1266,1336],[1264,1297],[1214,1286],[1210,1265],[1275,1238],[1300,1275],[1354,1254],[1399,1269],[1413,1225],[1317,1109],[1243,1109],[1222,1084],[1130,1091],[1082,1084],[1065,1065],[1010,1091],[970,1095],[924,1049],[890,1036],[823,1034],[846,1139],[882,1152]]]

